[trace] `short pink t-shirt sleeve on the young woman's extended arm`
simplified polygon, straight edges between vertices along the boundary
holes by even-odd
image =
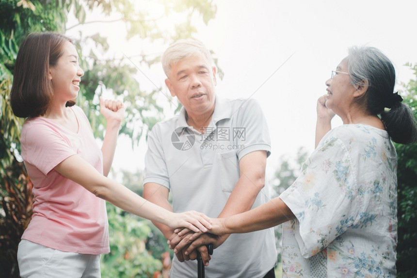
[[[32,124],[22,132],[22,158],[44,175],[66,158],[77,154],[58,131],[43,124]]]

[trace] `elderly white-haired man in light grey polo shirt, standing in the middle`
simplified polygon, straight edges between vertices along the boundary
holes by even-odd
[[[216,67],[199,41],[177,41],[164,52],[162,65],[165,84],[183,107],[177,116],[156,124],[148,136],[144,197],[174,212],[195,210],[210,217],[227,217],[265,203],[271,143],[259,104],[253,99],[216,96]],[[154,225],[168,240],[176,238],[169,227]],[[200,235],[192,245],[199,246],[206,265],[205,245],[210,243],[216,249],[206,268],[208,277],[275,277],[273,229]],[[171,278],[196,276],[197,262],[192,261],[196,254],[189,254],[188,246],[175,248]]]

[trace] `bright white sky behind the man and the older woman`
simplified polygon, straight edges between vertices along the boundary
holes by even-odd
[[[216,53],[218,65],[225,72],[224,79],[218,79],[217,94],[260,102],[273,148],[267,176],[273,174],[280,156],[293,157],[299,147],[313,150],[317,98],[326,93],[324,82],[349,47],[377,47],[394,63],[398,82],[407,83],[413,78],[404,64],[417,63],[417,1],[214,2],[216,18],[208,26],[199,26],[196,38]],[[119,27],[105,30],[116,52],[134,55],[141,51],[138,45],[132,49],[120,47]],[[161,46],[161,51],[166,47]],[[168,93],[161,66],[145,74],[147,77],[139,80],[141,86],[153,86],[150,78]],[[335,117],[333,124],[340,125],[341,121]],[[113,168],[142,169],[145,142],[133,150],[124,142],[119,141]]]

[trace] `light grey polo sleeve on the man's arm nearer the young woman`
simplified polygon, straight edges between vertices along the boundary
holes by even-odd
[[[159,125],[155,125],[148,136],[148,149],[145,155],[144,184],[148,182],[158,183],[170,188],[168,169],[163,154],[162,143],[158,136]]]

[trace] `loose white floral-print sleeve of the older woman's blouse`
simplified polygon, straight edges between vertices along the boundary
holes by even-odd
[[[356,188],[348,149],[337,136],[328,137],[280,195],[298,220],[294,234],[303,257],[326,248],[353,225],[358,214]]]

